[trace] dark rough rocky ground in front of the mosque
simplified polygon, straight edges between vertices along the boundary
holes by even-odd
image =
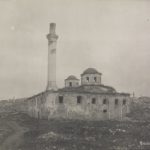
[[[147,102],[141,101],[124,122],[47,121],[1,112],[0,150],[150,150],[149,114]]]

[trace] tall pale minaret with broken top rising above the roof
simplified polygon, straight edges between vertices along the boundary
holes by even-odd
[[[56,44],[58,36],[55,33],[56,24],[50,23],[48,39],[48,77],[46,90],[57,90],[56,85]]]

